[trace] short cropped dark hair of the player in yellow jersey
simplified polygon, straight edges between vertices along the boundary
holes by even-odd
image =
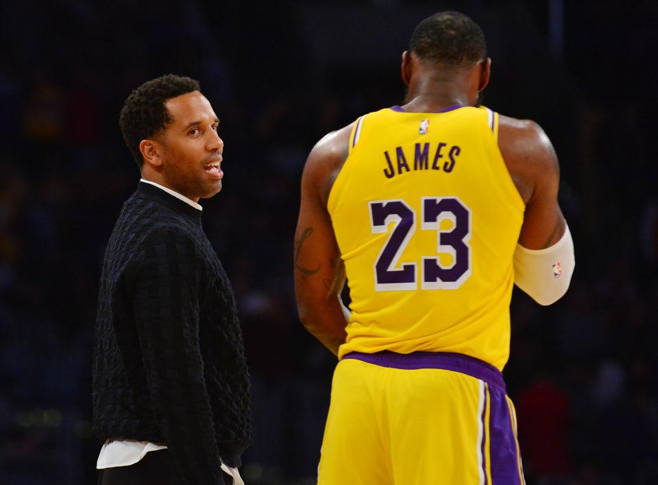
[[[487,58],[485,34],[460,12],[439,12],[417,25],[409,50],[419,58],[458,67]]]

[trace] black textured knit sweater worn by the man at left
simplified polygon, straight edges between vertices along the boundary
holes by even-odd
[[[140,182],[101,274],[94,431],[164,443],[189,484],[219,484],[252,440],[233,291],[201,211]]]

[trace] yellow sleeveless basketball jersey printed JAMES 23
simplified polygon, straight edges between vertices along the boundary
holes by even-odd
[[[502,370],[525,206],[497,138],[484,107],[354,123],[328,199],[352,299],[339,357],[454,352]]]

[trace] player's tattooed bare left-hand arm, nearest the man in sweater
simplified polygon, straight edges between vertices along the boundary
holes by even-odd
[[[329,192],[345,159],[352,126],[332,132],[311,150],[302,174],[295,231],[295,294],[300,320],[332,353],[345,342],[340,300],[345,268],[327,210]]]

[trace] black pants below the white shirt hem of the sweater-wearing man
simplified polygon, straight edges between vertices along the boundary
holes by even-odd
[[[169,451],[149,451],[130,466],[116,466],[98,471],[98,485],[181,485]]]

